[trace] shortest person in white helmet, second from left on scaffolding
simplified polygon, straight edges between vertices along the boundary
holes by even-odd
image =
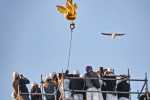
[[[36,94],[31,94],[31,100],[42,100],[42,95],[38,94],[41,93],[41,89],[38,87],[38,84],[33,82],[31,84],[31,93],[36,93]]]

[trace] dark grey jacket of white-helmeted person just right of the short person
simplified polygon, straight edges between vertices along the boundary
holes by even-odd
[[[56,85],[51,80],[46,81],[44,85],[45,93],[53,94],[54,88],[56,89]],[[53,98],[54,98],[54,95],[46,95],[46,100],[53,99]]]

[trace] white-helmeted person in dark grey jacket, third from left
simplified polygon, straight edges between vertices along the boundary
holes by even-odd
[[[45,78],[45,85],[44,85],[44,91],[48,94],[53,94],[54,90],[56,89],[56,85],[52,82],[52,78],[50,76],[47,76]],[[54,95],[46,95],[46,100],[55,100]]]

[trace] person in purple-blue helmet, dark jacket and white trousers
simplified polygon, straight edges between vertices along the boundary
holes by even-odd
[[[85,78],[99,78],[96,72],[93,72],[92,66],[86,66]],[[85,79],[87,91],[98,91],[100,88],[100,82],[98,79]],[[87,100],[100,100],[98,92],[86,92]]]

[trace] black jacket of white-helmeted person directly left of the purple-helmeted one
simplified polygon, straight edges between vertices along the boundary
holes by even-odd
[[[78,77],[78,76],[74,76]],[[70,90],[82,90],[84,82],[81,79],[71,79],[69,83]],[[80,92],[73,92],[74,94],[79,94]]]

